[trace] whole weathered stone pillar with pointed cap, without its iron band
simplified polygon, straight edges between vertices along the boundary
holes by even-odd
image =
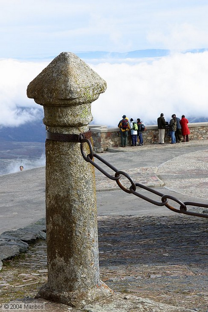
[[[63,52],[28,85],[27,96],[43,105],[49,132],[80,134],[92,121],[92,101],[105,90],[86,63]],[[94,167],[80,143],[46,140],[46,229],[48,281],[37,297],[80,308],[109,296],[99,274]]]

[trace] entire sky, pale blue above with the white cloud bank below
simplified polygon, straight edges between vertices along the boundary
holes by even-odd
[[[1,0],[0,128],[40,118],[27,85],[63,51],[168,49],[157,58],[87,60],[107,90],[92,103],[96,124],[161,112],[208,120],[208,0]]]

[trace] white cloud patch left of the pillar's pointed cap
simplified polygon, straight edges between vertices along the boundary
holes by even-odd
[[[40,118],[42,107],[26,95],[28,83],[48,64],[0,60],[0,127]]]

